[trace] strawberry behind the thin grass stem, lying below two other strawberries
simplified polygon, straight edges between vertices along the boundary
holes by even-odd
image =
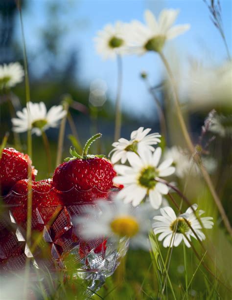
[[[18,181],[6,196],[7,204],[11,204],[11,213],[16,222],[26,228],[28,179]],[[62,209],[61,195],[56,193],[52,180],[30,181],[32,192],[32,229],[42,230],[43,222],[49,220]]]

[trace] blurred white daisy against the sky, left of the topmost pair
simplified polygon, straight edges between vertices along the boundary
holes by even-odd
[[[116,22],[115,25],[107,24],[94,38],[96,51],[103,59],[114,59],[116,55],[126,54],[127,37],[125,24]]]

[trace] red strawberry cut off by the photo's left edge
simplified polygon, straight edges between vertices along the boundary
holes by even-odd
[[[14,148],[5,148],[0,158],[0,189],[5,195],[13,185],[28,177],[28,170],[32,173],[32,180],[35,180],[37,170],[31,166],[30,157]]]

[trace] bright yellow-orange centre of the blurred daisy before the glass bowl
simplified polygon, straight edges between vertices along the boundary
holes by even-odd
[[[137,220],[130,215],[118,217],[111,224],[112,231],[118,236],[135,236],[139,232]]]

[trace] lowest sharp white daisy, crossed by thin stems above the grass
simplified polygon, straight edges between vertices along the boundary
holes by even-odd
[[[185,214],[180,214],[176,216],[175,212],[171,207],[161,208],[161,214],[154,216],[155,222],[152,224],[154,234],[161,234],[158,238],[159,241],[163,240],[163,247],[177,247],[180,245],[181,241],[184,240],[187,247],[191,245],[186,239],[190,240],[191,236],[196,238],[193,231],[190,229],[189,225],[192,227],[196,235],[200,240],[206,238],[204,233],[201,231],[202,225],[204,228],[210,229],[213,226],[212,217],[201,217],[200,220],[202,225],[196,218],[194,211],[197,216],[204,214],[202,210],[197,211],[197,204],[193,204],[186,210]],[[185,236],[186,235],[186,236]]]

